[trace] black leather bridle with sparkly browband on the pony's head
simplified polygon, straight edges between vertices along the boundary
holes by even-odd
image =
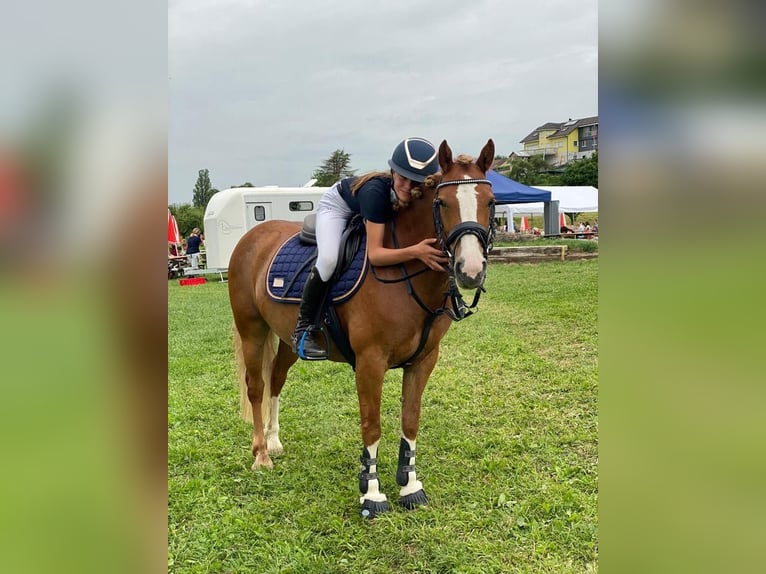
[[[453,313],[450,313],[453,321],[460,321],[465,317],[472,315],[472,309],[475,309],[479,304],[479,296],[484,289],[484,279],[482,279],[481,285],[476,288],[476,293],[473,297],[473,302],[470,305],[466,305],[463,301],[463,296],[460,294],[460,290],[457,288],[457,282],[455,280],[455,254],[453,252],[453,246],[464,235],[473,235],[481,243],[484,258],[489,257],[489,252],[492,250],[492,244],[495,241],[495,204],[494,202],[489,208],[489,229],[485,229],[483,225],[480,225],[476,221],[461,221],[458,223],[445,237],[444,222],[442,221],[441,207],[442,200],[439,199],[439,189],[447,185],[463,185],[463,184],[476,184],[484,183],[492,187],[492,182],[487,179],[454,179],[449,181],[442,181],[436,186],[436,197],[434,197],[433,213],[434,213],[434,228],[436,230],[436,237],[439,240],[439,246],[442,251],[449,258],[449,265],[447,266],[447,273],[449,274],[449,292],[447,293],[452,299]]]

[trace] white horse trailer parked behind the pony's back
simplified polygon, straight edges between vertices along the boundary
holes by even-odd
[[[303,221],[315,213],[328,187],[232,187],[219,191],[205,209],[208,269],[228,269],[231,253],[246,231],[271,219]]]

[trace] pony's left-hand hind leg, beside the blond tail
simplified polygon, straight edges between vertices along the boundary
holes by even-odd
[[[235,336],[235,348],[237,339]],[[271,469],[274,464],[269,457],[264,428],[271,419],[271,378],[274,366],[275,341],[271,331],[265,328],[261,336],[242,337],[239,340],[240,397],[243,417],[251,416],[253,423],[252,452],[253,470]],[[247,397],[245,399],[245,396]],[[249,409],[247,404],[249,403]]]

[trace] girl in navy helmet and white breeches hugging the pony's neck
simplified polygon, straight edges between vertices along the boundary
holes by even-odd
[[[319,200],[316,214],[317,260],[303,288],[292,349],[301,359],[327,358],[323,337],[314,328],[329,281],[338,261],[341,235],[357,213],[365,220],[367,258],[372,265],[385,266],[420,260],[430,269],[444,271],[447,257],[437,239],[391,249],[383,246],[386,223],[420,196],[419,184],[439,171],[438,152],[422,138],[399,143],[388,160],[388,172],[370,172],[349,177],[333,185]]]

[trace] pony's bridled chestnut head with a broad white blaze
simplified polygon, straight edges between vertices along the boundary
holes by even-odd
[[[464,289],[481,288],[487,272],[495,234],[495,196],[486,175],[494,157],[491,139],[475,162],[465,155],[453,161],[447,140],[439,146],[442,176],[434,198],[436,235],[449,256],[450,273]]]

